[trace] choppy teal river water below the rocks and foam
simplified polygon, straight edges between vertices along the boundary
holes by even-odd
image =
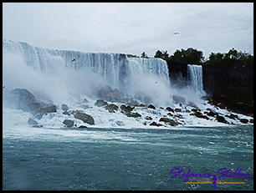
[[[170,179],[174,168],[243,169],[250,177],[217,181],[245,184],[215,190],[253,190],[253,126],[28,130],[3,135],[3,190],[214,190]]]

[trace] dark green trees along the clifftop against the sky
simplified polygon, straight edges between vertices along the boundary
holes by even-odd
[[[127,54],[130,58],[139,58],[136,55]],[[149,58],[145,52],[141,53],[141,58]],[[166,61],[173,61],[176,63],[192,63],[192,64],[203,64],[212,61],[253,61],[253,56],[250,53],[238,52],[235,48],[231,48],[228,53],[210,53],[209,58],[206,59],[203,56],[201,50],[196,48],[187,48],[176,50],[170,55],[167,50],[157,50],[154,58],[162,58]]]

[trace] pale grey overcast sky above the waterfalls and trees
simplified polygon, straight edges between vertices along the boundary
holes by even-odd
[[[253,54],[253,3],[3,3],[3,39],[149,57],[191,47]]]

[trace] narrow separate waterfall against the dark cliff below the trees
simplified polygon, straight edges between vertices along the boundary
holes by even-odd
[[[202,65],[187,64],[187,79],[190,80],[193,90],[202,90]]]

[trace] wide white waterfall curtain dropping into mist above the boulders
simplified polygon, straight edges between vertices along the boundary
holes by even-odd
[[[58,89],[63,87],[63,89],[87,90],[89,84],[90,87],[106,84],[112,89],[122,89],[127,93],[134,93],[136,90],[146,92],[149,89],[156,93],[157,89],[161,88],[163,92],[163,87],[168,89],[170,86],[167,64],[161,58],[127,58],[124,53],[84,53],[38,48],[28,43],[3,40],[3,58],[8,61],[14,56],[18,56],[24,64],[20,70],[17,70],[19,74],[13,76],[28,74],[26,72],[28,70],[37,73],[33,79],[23,75],[22,79],[28,79],[29,84],[37,84],[34,77],[51,75],[54,77],[51,84],[60,82]],[[5,60],[3,65],[6,69],[9,62]],[[17,68],[16,61],[12,68]],[[5,69],[3,74],[6,73]],[[4,78],[6,79],[3,81],[7,81],[10,76],[4,75]],[[40,81],[39,84],[43,85],[43,82],[45,80]],[[68,85],[64,87],[64,83]]]

